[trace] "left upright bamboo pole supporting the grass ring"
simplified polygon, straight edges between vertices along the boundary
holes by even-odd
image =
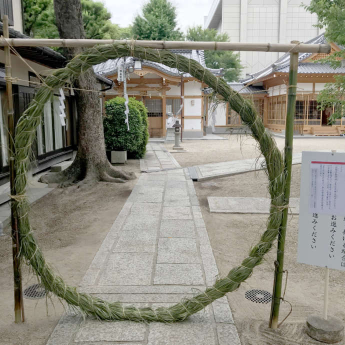
[[[3,36],[8,37],[8,16],[4,15]],[[7,117],[8,117],[8,162],[9,162],[9,181],[10,193],[15,195],[14,179],[14,112],[12,99],[12,68],[10,60],[9,47],[4,46],[5,55],[5,76],[6,76],[6,95],[7,95]],[[19,261],[19,229],[16,218],[16,210],[13,200],[11,199],[11,236],[12,236],[12,257],[13,257],[13,283],[14,283],[14,322],[24,322],[24,307],[21,288],[21,273]]]

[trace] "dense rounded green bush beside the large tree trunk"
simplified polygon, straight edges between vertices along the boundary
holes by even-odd
[[[148,140],[147,110],[142,102],[129,98],[129,131],[124,122],[124,98],[115,97],[105,102],[103,118],[105,147],[107,150],[127,150],[128,155],[142,158]]]

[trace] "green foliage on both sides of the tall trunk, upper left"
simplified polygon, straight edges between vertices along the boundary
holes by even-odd
[[[86,38],[131,38],[131,27],[121,28],[110,21],[102,2],[81,0]],[[23,0],[25,34],[35,38],[59,38],[53,0]]]

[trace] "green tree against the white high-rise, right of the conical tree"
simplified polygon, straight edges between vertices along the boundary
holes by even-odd
[[[218,33],[215,29],[203,29],[201,25],[197,25],[188,28],[186,39],[190,41],[227,42],[229,36],[226,32]],[[205,50],[204,54],[207,67],[224,68],[224,79],[226,81],[238,80],[242,68],[238,54],[225,50]]]

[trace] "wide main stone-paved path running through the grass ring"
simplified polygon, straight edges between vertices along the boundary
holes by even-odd
[[[213,284],[218,270],[186,169],[141,174],[80,291],[167,306]],[[100,322],[63,315],[47,344],[240,344],[226,297],[183,322]]]

